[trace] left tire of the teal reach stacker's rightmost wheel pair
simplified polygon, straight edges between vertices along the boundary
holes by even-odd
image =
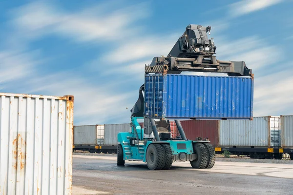
[[[205,169],[208,165],[208,150],[202,143],[193,144],[193,153],[197,155],[195,160],[190,161],[192,168]]]

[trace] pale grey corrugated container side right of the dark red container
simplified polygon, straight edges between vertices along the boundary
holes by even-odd
[[[269,124],[269,117],[253,117],[253,120],[219,120],[219,145],[269,147]]]

